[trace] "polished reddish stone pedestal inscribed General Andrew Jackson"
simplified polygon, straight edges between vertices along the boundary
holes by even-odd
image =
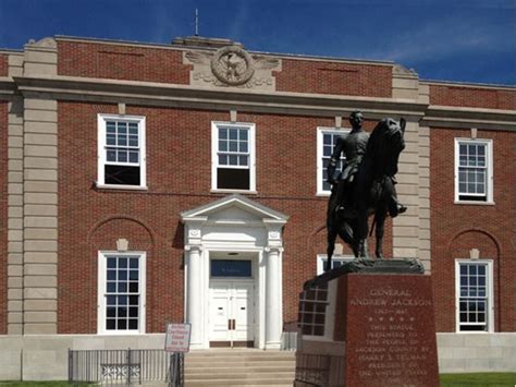
[[[398,269],[332,270],[320,276],[327,281],[305,285],[295,386],[439,386],[431,277]],[[309,292],[322,298],[324,288],[324,331],[317,336],[305,307]]]

